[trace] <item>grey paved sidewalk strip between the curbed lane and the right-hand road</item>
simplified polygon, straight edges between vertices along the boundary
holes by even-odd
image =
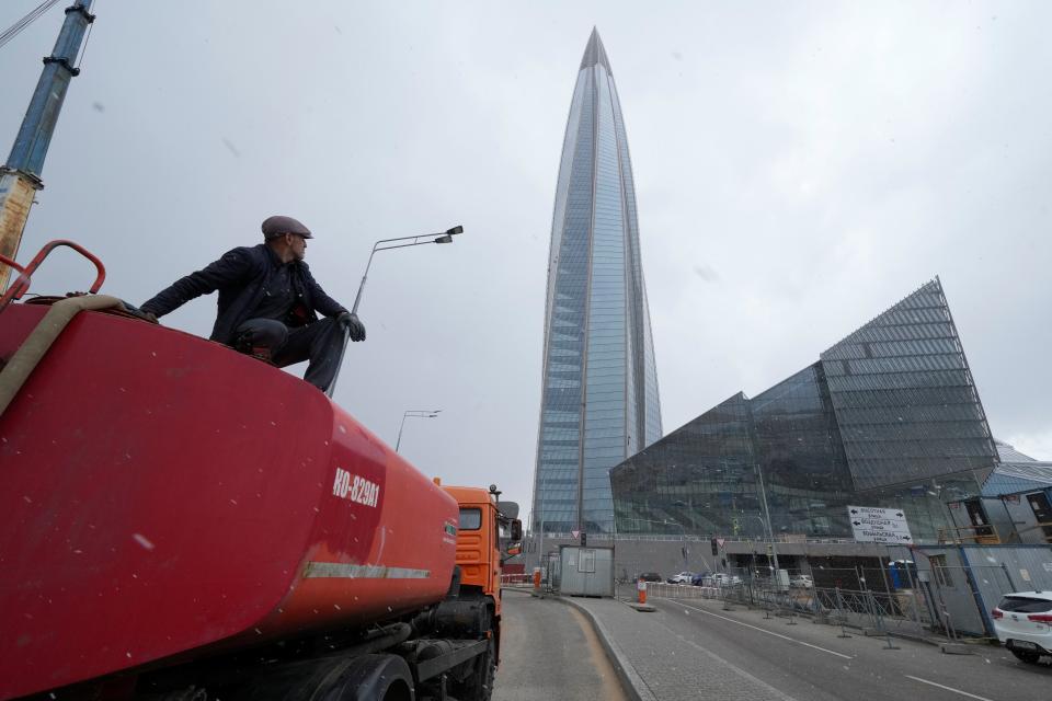
[[[614,599],[562,599],[592,620],[625,681],[641,701],[682,701],[705,689],[721,701],[791,699],[741,667],[668,634],[658,619]],[[687,694],[685,697],[685,693]]]

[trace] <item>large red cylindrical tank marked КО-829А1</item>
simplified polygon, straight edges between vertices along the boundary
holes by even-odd
[[[47,311],[0,313],[0,360]],[[321,392],[118,314],[58,336],[0,473],[0,699],[391,619],[453,575],[457,503]]]

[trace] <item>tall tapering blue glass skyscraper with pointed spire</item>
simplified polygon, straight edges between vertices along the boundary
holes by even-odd
[[[614,530],[609,469],[661,437],[636,188],[592,30],[570,103],[548,261],[534,527]]]

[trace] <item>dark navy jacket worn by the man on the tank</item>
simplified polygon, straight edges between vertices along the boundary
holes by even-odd
[[[346,311],[339,302],[325,295],[315,281],[310,269],[302,261],[290,263],[291,280],[296,294],[296,307],[304,323],[317,321],[321,312],[336,317]],[[268,285],[282,261],[265,243],[240,246],[222,254],[203,271],[191,273],[162,289],[153,299],[144,303],[142,311],[157,317],[174,311],[190,300],[219,290],[216,325],[211,329],[213,341],[232,344],[235,330],[252,318],[259,308]]]

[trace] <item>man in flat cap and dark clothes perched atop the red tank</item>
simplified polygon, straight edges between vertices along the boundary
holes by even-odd
[[[315,281],[304,255],[310,229],[291,217],[263,221],[264,243],[239,246],[204,269],[175,280],[141,306],[152,321],[219,290],[213,341],[278,367],[310,360],[304,379],[325,391],[336,374],[345,329],[365,341],[356,314]],[[325,319],[319,321],[318,312]]]

